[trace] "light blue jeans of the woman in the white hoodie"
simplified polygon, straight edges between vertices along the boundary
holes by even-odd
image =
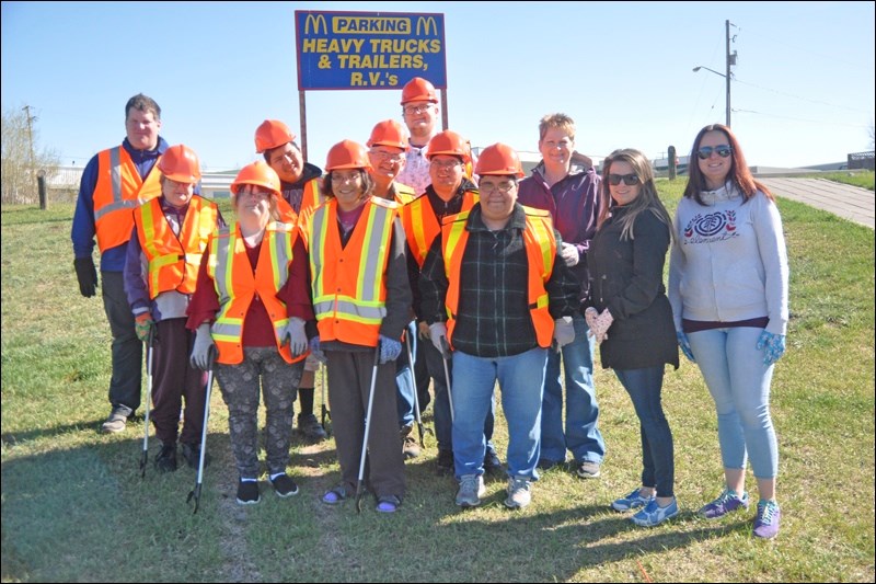
[[[770,416],[773,366],[757,344],[763,329],[733,327],[688,334],[718,414],[724,468],[745,469],[747,456],[758,479],[779,473],[779,445]]]

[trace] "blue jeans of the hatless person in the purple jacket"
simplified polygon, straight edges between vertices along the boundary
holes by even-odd
[[[541,457],[562,462],[566,449],[576,462],[602,462],[606,442],[599,432],[599,404],[593,387],[593,347],[596,342],[587,336],[587,322],[580,314],[573,318],[575,341],[563,347],[566,381],[566,425],[563,432],[563,386],[560,377],[560,357],[556,351],[548,354],[548,373],[544,377],[544,398],[541,420]]]

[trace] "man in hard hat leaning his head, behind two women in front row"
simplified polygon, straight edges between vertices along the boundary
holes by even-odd
[[[279,119],[265,119],[255,130],[255,151],[265,157],[265,162],[280,178],[281,196],[277,201],[280,220],[303,228],[307,227],[307,218],[313,209],[324,201],[320,194],[322,170],[304,161],[295,138],[289,126]],[[298,388],[301,402],[298,431],[312,442],[322,442],[327,437],[325,428],[313,413],[314,373],[319,366],[315,358],[308,357]]]

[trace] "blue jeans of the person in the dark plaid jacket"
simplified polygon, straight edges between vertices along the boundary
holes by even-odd
[[[541,399],[546,348],[511,357],[475,357],[453,352],[453,463],[457,479],[483,474],[486,439],[484,417],[489,412],[496,381],[508,422],[508,474],[538,480]]]

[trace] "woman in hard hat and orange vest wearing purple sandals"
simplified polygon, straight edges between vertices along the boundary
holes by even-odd
[[[339,484],[322,501],[335,505],[356,491],[367,447],[367,480],[377,495],[377,511],[392,513],[405,492],[395,422],[395,359],[411,319],[411,288],[397,205],[371,196],[370,167],[366,148],[351,140],[328,150],[322,184],[327,201],[308,224],[319,330],[310,346],[327,363],[341,465]]]

